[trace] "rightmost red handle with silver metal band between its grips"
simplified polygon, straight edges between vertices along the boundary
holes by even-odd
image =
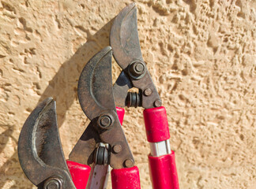
[[[154,156],[149,155],[149,172],[154,189],[179,189],[179,180],[175,165],[175,153],[171,151],[168,139],[170,133],[168,118],[163,106],[145,109],[143,112],[147,139],[154,149]],[[162,142],[164,141],[164,142]],[[162,142],[162,143],[160,143]],[[165,150],[164,154],[161,154]],[[171,154],[169,154],[171,153]],[[152,153],[151,153],[152,154]]]

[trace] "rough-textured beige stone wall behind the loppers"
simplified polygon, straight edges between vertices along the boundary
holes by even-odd
[[[0,188],[32,188],[17,139],[49,96],[57,101],[68,157],[89,123],[77,79],[109,44],[113,19],[130,2],[0,2]],[[137,9],[141,51],[168,111],[180,187],[255,189],[256,2],[140,0]],[[141,188],[151,188],[142,111],[126,109],[123,128]]]

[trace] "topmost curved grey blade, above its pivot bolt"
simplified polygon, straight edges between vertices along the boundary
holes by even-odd
[[[135,3],[126,6],[115,17],[111,28],[110,44],[115,61],[122,69],[132,61],[143,61],[137,33],[137,7]]]

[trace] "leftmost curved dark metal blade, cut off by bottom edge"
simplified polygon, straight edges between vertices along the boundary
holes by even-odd
[[[73,188],[58,135],[56,104],[47,98],[25,121],[18,141],[18,156],[25,175],[37,187],[52,176],[62,178],[62,188]]]

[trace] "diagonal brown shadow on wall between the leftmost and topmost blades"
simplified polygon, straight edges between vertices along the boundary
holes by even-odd
[[[95,35],[90,35],[86,31],[88,35],[87,42],[73,54],[70,60],[61,66],[54,78],[49,82],[46,90],[43,91],[38,103],[48,97],[53,97],[56,100],[59,127],[62,126],[66,111],[77,98],[77,82],[85,64],[94,54],[109,45],[112,22],[113,19],[97,31]]]

